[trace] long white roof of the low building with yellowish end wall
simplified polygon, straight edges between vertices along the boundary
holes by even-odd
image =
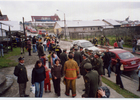
[[[64,21],[56,22],[60,27],[64,27]],[[108,25],[104,21],[66,21],[66,27],[92,27],[92,26],[106,26]]]

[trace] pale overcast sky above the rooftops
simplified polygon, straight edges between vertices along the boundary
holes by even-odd
[[[104,2],[105,1],[105,2]],[[128,0],[106,1],[106,0],[36,0],[36,1],[5,1],[0,0],[0,9],[3,15],[8,15],[12,21],[20,21],[22,17],[26,21],[31,20],[31,16],[50,16],[55,13],[66,20],[95,20],[95,19],[116,19],[125,20],[130,16],[130,20],[140,20],[140,2]],[[59,9],[60,11],[56,11]]]

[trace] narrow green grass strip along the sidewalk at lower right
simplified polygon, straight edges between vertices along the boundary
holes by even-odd
[[[111,82],[110,80],[108,80],[104,77],[102,77],[102,82],[107,84],[109,87],[114,89],[117,93],[121,94],[125,98],[140,98],[139,96],[137,96],[125,89],[121,89],[118,85],[116,85],[115,83]]]

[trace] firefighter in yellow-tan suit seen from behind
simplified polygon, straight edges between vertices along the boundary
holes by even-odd
[[[66,79],[66,92],[65,95],[69,96],[70,86],[72,88],[72,97],[76,96],[76,78],[79,75],[79,67],[72,55],[68,55],[69,60],[64,64],[64,73]]]

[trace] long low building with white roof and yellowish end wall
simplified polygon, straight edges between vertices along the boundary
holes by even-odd
[[[66,21],[66,35],[69,33],[93,33],[101,31],[104,27],[114,28],[101,20],[95,21]],[[55,34],[64,34],[64,21],[57,21],[54,25]]]

